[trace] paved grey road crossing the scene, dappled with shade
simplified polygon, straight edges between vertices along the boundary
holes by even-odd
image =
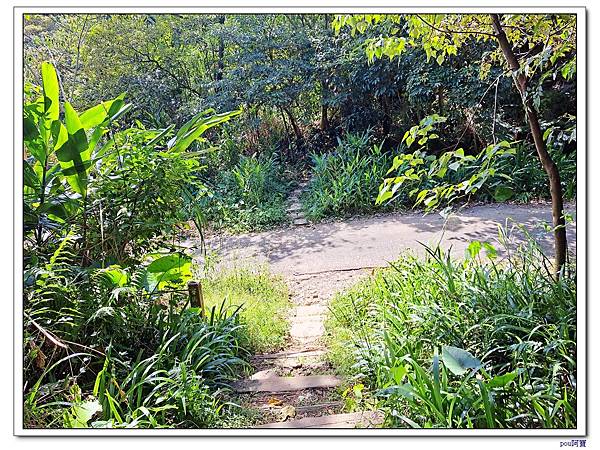
[[[567,205],[575,215],[575,205]],[[385,266],[406,249],[423,253],[419,244],[441,242],[461,257],[473,240],[498,245],[498,225],[513,229],[514,240],[523,235],[514,224],[523,224],[552,256],[552,234],[542,222],[552,223],[549,204],[481,205],[463,209],[446,223],[437,213],[394,213],[352,219],[344,222],[320,223],[284,228],[263,233],[237,236],[214,236],[208,247],[223,256],[225,262],[267,262],[273,272],[300,275],[336,270],[352,270]],[[571,251],[575,251],[576,223],[568,225]]]

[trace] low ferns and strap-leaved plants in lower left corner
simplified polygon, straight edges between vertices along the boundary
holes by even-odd
[[[25,425],[204,427],[234,413],[221,391],[245,367],[245,326],[223,301],[205,320],[182,309],[190,264],[82,269],[67,238],[26,267]]]

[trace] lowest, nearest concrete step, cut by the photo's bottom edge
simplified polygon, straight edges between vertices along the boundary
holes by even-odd
[[[304,417],[288,422],[259,425],[257,428],[374,428],[383,422],[377,411],[333,414],[330,416]]]

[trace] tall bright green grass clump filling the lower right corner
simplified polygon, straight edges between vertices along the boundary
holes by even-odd
[[[404,255],[338,295],[329,358],[387,427],[576,427],[575,275],[554,281],[532,244],[502,263],[481,248]]]

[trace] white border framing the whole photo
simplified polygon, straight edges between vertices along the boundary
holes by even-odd
[[[584,437],[588,434],[588,351],[587,351],[587,30],[586,8],[570,6],[443,6],[431,1],[419,6],[308,6],[323,2],[304,2],[307,6],[229,6],[229,1],[218,2],[227,6],[15,6],[13,8],[13,170],[14,170],[14,279],[13,279],[13,433],[16,436],[417,436],[417,437]],[[208,2],[205,2],[208,3]],[[281,3],[281,2],[279,2]],[[346,2],[346,4],[349,2]],[[527,2],[523,2],[527,3]],[[548,2],[553,3],[553,2]],[[147,4],[147,3],[146,3]],[[435,9],[436,13],[549,13],[560,12],[577,16],[577,192],[576,220],[580,233],[577,235],[577,428],[575,429],[27,429],[23,427],[23,177],[22,177],[22,121],[23,113],[23,14],[51,13],[113,13],[113,14],[270,14],[270,13],[415,13]],[[577,206],[581,206],[577,208]]]

